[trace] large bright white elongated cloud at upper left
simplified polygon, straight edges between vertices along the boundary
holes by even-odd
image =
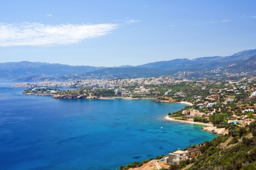
[[[95,25],[0,23],[0,46],[77,43],[83,39],[104,36],[118,27],[113,23]]]

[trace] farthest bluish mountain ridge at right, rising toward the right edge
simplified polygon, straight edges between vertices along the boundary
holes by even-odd
[[[201,57],[196,58],[193,60],[189,59],[174,59],[169,61],[159,61],[153,63],[147,63],[143,65],[138,65],[137,67],[144,67],[144,68],[157,68],[157,69],[164,69],[164,70],[174,70],[174,69],[198,69],[198,68],[218,68],[224,65],[229,64],[230,62],[238,61],[238,60],[246,60],[251,56],[256,54],[255,50],[247,50],[242,51],[231,56],[220,57]]]

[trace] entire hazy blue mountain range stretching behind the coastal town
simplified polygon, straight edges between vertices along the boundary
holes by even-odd
[[[228,72],[250,71],[255,67],[255,50],[242,51],[231,56],[201,57],[196,59],[174,59],[152,62],[138,66],[123,65],[116,67],[71,66],[42,62],[0,63],[0,79],[20,81],[31,80],[74,80],[74,79],[111,79],[172,76],[179,71],[205,71],[220,68]],[[252,57],[253,56],[253,57]],[[245,68],[244,65],[247,67]],[[255,71],[254,71],[255,72]],[[201,73],[202,74],[202,73]]]

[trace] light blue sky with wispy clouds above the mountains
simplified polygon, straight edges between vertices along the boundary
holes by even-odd
[[[256,1],[0,0],[0,63],[141,65],[256,48]]]

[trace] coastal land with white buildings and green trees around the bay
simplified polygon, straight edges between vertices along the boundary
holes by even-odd
[[[59,86],[77,87],[77,89],[59,90],[57,89]],[[164,116],[164,119],[205,125],[203,130],[220,135],[210,142],[205,141],[185,149],[177,149],[172,153],[158,156],[156,159],[122,165],[120,169],[230,169],[227,166],[231,165],[225,161],[223,165],[220,165],[221,161],[219,164],[217,163],[218,166],[212,162],[221,159],[222,154],[227,155],[226,150],[234,149],[237,145],[243,145],[243,148],[247,144],[247,148],[250,150],[244,149],[241,152],[247,153],[248,157],[252,157],[252,154],[256,153],[251,149],[255,146],[253,143],[256,142],[254,137],[256,136],[254,121],[256,116],[254,111],[256,79],[254,77],[239,81],[181,81],[169,77],[116,79],[107,82],[105,80],[90,82],[87,80],[63,84],[60,82],[19,83],[11,87],[33,87],[25,90],[24,93],[50,95],[56,99],[154,98],[153,102],[158,103],[181,102],[188,106],[174,113],[166,113],[168,115]],[[247,140],[251,142],[246,143]],[[207,162],[205,153],[212,160]],[[231,153],[234,154],[233,151]],[[212,155],[215,157],[212,158]],[[246,166],[254,160],[256,158],[242,160],[239,162],[239,166]],[[202,161],[206,162],[200,164]],[[251,166],[254,169],[255,166]]]

